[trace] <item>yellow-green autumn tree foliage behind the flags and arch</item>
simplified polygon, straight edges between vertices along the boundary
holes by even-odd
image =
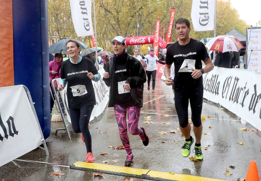
[[[95,0],[97,46],[112,51],[110,40],[113,37],[117,35],[123,37],[137,36],[137,29],[138,36],[153,35],[157,19],[161,21],[161,32],[163,25],[165,25],[165,32],[162,32],[162,34],[164,33],[164,37],[166,37],[171,7],[176,9],[174,21],[180,17],[191,21],[191,6],[191,0]],[[64,38],[64,36],[81,39],[92,47],[90,36],[77,37],[75,33],[69,0],[49,0],[48,16],[50,37],[54,32],[57,32],[59,39]],[[92,17],[94,23],[94,15]],[[247,24],[239,18],[237,10],[231,8],[230,1],[217,1],[216,22],[216,35],[224,35],[233,28],[243,34],[246,33]],[[214,31],[195,32],[191,23],[190,36],[200,40],[204,37],[213,37]],[[177,35],[173,26],[171,41],[175,42],[176,40]]]

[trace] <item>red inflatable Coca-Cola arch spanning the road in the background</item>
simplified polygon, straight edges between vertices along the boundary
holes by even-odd
[[[125,37],[125,39],[126,39],[126,46],[154,43],[154,35],[148,35],[142,37]],[[166,41],[164,41],[161,37],[160,40],[162,42],[162,44],[160,44],[160,48],[166,48]]]

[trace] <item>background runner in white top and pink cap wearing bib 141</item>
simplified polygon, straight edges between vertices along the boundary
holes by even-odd
[[[147,68],[146,68],[146,74],[148,76],[148,91],[150,90],[150,82],[151,82],[151,76],[152,76],[152,93],[155,93],[155,79],[156,79],[156,73],[157,73],[157,61],[163,65],[165,65],[165,62],[160,61],[157,56],[154,55],[154,49],[150,49],[150,53],[145,56],[147,59]]]

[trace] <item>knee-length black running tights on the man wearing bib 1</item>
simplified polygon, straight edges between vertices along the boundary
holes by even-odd
[[[179,117],[180,126],[185,128],[189,123],[188,107],[190,101],[191,120],[195,127],[201,125],[201,111],[203,101],[203,89],[190,91],[174,91],[175,107]]]

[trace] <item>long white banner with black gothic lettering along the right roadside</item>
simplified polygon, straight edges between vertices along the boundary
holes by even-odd
[[[203,74],[203,97],[216,102],[261,130],[261,74],[239,68]]]

